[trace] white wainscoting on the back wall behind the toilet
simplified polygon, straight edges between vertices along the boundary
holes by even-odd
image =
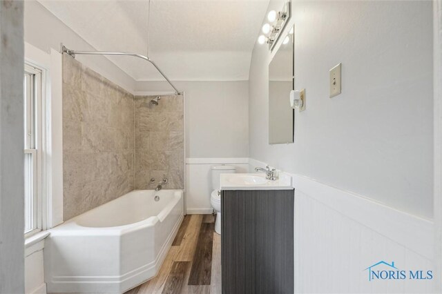
[[[248,158],[187,158],[186,159],[186,212],[211,213],[211,166],[226,164],[236,166],[237,173],[247,173]]]

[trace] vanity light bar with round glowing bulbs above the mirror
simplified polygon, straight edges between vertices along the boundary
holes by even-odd
[[[276,41],[278,41],[278,38],[280,37],[280,33],[284,30],[290,19],[290,3],[291,0],[286,1],[282,10],[279,12],[276,12],[276,10],[269,11],[267,14],[267,20],[269,23],[265,23],[262,26],[261,30],[264,35],[258,37],[258,43],[268,43],[269,49],[273,50]],[[290,34],[293,34],[293,28],[291,29]],[[283,42],[286,44],[289,40],[284,40]]]

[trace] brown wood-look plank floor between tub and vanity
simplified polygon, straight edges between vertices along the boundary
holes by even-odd
[[[125,294],[157,293],[221,293],[221,236],[215,233],[215,217],[186,215],[157,275]]]

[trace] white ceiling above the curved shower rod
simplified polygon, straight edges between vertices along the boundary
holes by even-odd
[[[249,79],[251,51],[269,4],[151,0],[147,30],[148,0],[39,2],[95,49],[148,53],[175,81]],[[137,81],[162,80],[140,59],[108,59]]]

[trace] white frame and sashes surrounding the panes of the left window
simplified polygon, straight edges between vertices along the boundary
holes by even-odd
[[[30,109],[26,110],[26,117],[32,121],[32,127],[26,125],[24,154],[32,155],[32,228],[24,231],[25,238],[28,238],[45,229],[44,222],[44,139],[46,130],[44,128],[45,111],[44,105],[46,95],[46,75],[44,68],[39,68],[35,64],[25,61],[24,71],[26,75],[31,75],[30,81],[32,91],[26,93],[26,103]],[[30,94],[30,95],[29,95]],[[23,116],[24,117],[24,116]],[[26,133],[30,133],[28,136]],[[26,138],[26,137],[29,137]],[[26,140],[28,139],[28,140]],[[25,217],[28,217],[26,215]]]

